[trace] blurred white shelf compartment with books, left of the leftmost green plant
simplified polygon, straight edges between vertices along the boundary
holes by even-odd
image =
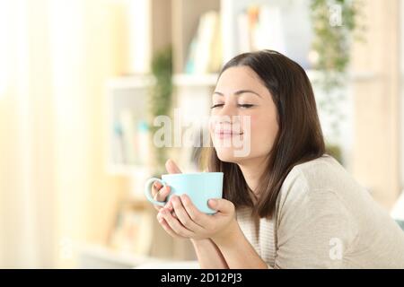
[[[147,160],[140,154],[146,154],[142,141],[146,127],[142,125],[147,121],[147,95],[154,83],[153,75],[138,74],[114,77],[106,84],[105,152],[106,170],[111,175],[146,178],[150,174]],[[128,152],[127,146],[133,149]]]

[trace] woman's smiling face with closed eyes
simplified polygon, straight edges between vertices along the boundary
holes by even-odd
[[[210,135],[221,161],[242,163],[271,151],[278,132],[277,108],[250,67],[235,66],[221,74],[211,116]]]

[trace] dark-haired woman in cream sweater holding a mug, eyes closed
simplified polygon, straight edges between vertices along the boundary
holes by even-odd
[[[300,65],[270,50],[234,57],[212,101],[212,116],[227,118],[210,129],[209,171],[224,172],[224,199],[208,202],[217,213],[199,213],[187,196],[156,206],[164,230],[192,240],[202,268],[404,268],[404,232],[324,153]],[[246,156],[221,144],[246,131]],[[154,186],[157,200],[169,192]]]

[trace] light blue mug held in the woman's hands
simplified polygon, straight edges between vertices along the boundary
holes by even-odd
[[[158,181],[162,186],[169,186],[170,195],[165,202],[154,200],[151,187]],[[196,173],[173,173],[163,174],[162,179],[150,178],[145,182],[145,196],[152,203],[164,206],[172,195],[189,196],[192,203],[202,213],[213,214],[215,210],[207,206],[211,198],[222,198],[223,196],[223,172],[196,172]]]

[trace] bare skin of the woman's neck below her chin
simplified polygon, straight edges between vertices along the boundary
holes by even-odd
[[[267,157],[253,158],[238,163],[242,175],[255,196],[258,195],[259,180],[266,170]]]

